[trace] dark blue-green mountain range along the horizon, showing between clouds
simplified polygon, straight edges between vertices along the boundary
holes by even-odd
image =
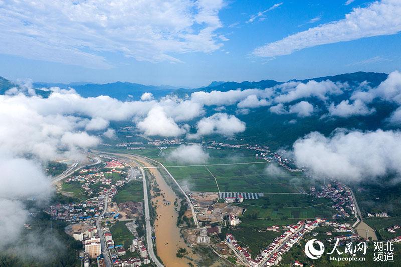
[[[349,98],[350,94],[354,91],[357,86],[367,81],[371,87],[378,86],[387,78],[385,73],[374,73],[374,72],[356,72],[340,74],[335,76],[317,77],[305,80],[290,80],[290,81],[301,81],[306,83],[310,80],[317,82],[324,80],[331,80],[333,82],[348,83],[350,90],[341,95],[331,95],[327,103],[339,103],[342,100]],[[50,92],[41,90],[41,88],[49,88],[51,86],[58,86],[60,88],[73,87],[83,97],[96,97],[99,95],[109,95],[119,100],[133,100],[139,99],[144,92],[151,92],[156,98],[166,96],[174,93],[179,96],[190,94],[196,91],[229,91],[236,89],[265,89],[280,85],[283,82],[274,80],[261,80],[258,82],[218,82],[214,81],[210,85],[200,87],[196,89],[187,88],[174,88],[170,86],[152,86],[142,85],[129,82],[115,82],[108,84],[87,84],[87,83],[73,83],[73,84],[51,84],[51,83],[34,83],[33,86],[36,92],[43,97],[46,97]],[[13,82],[0,78],[0,93],[4,94],[5,91],[9,90],[13,86],[16,86]],[[132,96],[132,97],[131,97]],[[240,133],[238,137],[246,137],[248,140],[255,140],[257,142],[267,142],[272,148],[279,148],[283,146],[289,146],[293,144],[299,137],[308,134],[311,131],[319,131],[325,135],[329,135],[336,128],[347,128],[347,129],[360,129],[360,130],[376,130],[391,129],[394,128],[392,125],[386,122],[397,106],[389,102],[383,102],[382,100],[375,100],[368,104],[369,108],[374,108],[375,112],[369,116],[349,116],[349,117],[325,117],[328,112],[327,103],[324,103],[321,99],[306,97],[298,98],[296,101],[288,102],[288,105],[292,105],[299,101],[308,101],[315,108],[316,111],[311,116],[297,116],[296,114],[275,114],[269,111],[269,106],[262,106],[258,108],[250,109],[249,112],[240,113],[236,105],[228,105],[225,107],[224,112],[229,114],[235,114],[241,121],[245,122],[247,127],[245,132]],[[210,116],[216,112],[216,106],[205,106],[206,116]],[[189,122],[194,125],[196,120]]]

